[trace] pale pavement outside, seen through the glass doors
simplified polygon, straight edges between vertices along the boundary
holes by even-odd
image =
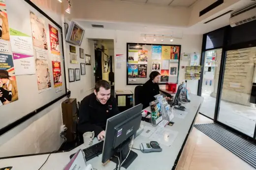
[[[199,112],[213,118],[216,98],[211,97],[210,94],[209,91],[203,91],[204,101]],[[256,125],[256,108],[221,100],[218,121],[253,137]]]

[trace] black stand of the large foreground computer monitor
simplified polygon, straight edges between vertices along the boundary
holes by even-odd
[[[124,142],[123,144],[121,144],[120,147],[118,147],[118,149],[116,150],[115,155],[119,157],[120,159],[120,152],[122,154],[122,162],[125,160],[125,158],[127,157],[127,154],[129,152],[129,142],[130,140]],[[122,167],[124,167],[125,169],[127,169],[130,164],[137,158],[138,154],[133,152],[132,150],[130,151],[126,161],[124,162],[124,164],[122,165]],[[112,162],[118,164],[118,159],[117,157],[113,156],[113,158],[110,159]],[[121,164],[121,163],[120,163]]]

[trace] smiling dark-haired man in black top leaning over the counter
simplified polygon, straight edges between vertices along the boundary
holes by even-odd
[[[94,93],[81,101],[78,130],[95,132],[98,140],[104,140],[106,121],[119,114],[115,97],[110,96],[110,84],[105,80],[96,82]]]

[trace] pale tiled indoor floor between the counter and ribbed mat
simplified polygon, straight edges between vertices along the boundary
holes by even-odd
[[[212,121],[198,115],[196,124]],[[255,170],[196,128],[188,138],[176,170]]]

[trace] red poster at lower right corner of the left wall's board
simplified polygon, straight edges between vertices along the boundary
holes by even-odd
[[[54,81],[54,88],[55,92],[62,91],[62,69],[61,69],[61,62],[52,61],[53,66],[53,81]]]

